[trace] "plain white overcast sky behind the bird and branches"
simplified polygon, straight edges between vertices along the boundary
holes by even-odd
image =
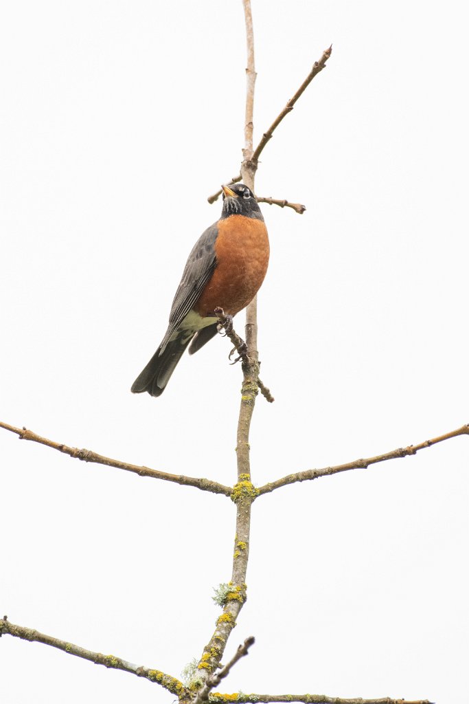
[[[253,2],[271,263],[252,474],[263,484],[469,421],[467,17],[448,1]],[[241,3],[4,2],[0,417],[66,444],[233,484],[229,341],[161,398],[160,342],[206,197],[238,172]],[[236,320],[243,333],[243,315]],[[228,499],[0,432],[0,616],[179,676],[231,575]],[[467,696],[468,455],[461,437],[290,486],[253,508],[248,603],[222,691]],[[170,703],[148,681],[0,641],[6,704]],[[221,689],[221,688],[220,688]]]

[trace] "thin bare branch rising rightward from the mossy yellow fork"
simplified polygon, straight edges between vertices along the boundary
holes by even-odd
[[[354,462],[347,462],[345,465],[335,465],[335,467],[323,467],[320,470],[306,470],[304,472],[295,472],[295,474],[287,474],[286,477],[282,479],[276,479],[275,482],[269,482],[269,484],[264,484],[264,486],[259,487],[259,496],[261,494],[269,494],[270,491],[279,489],[281,486],[287,486],[288,484],[295,484],[295,482],[306,482],[309,479],[318,479],[319,477],[328,477],[330,474],[338,474],[338,472],[347,472],[348,470],[358,470],[366,469],[370,465],[376,465],[380,462],[386,462],[387,460],[397,460],[399,458],[408,457],[409,455],[415,455],[419,450],[423,450],[426,447],[431,447],[444,440],[449,440],[450,438],[455,438],[458,435],[469,435],[469,425],[463,425],[457,430],[452,430],[450,433],[444,435],[439,435],[431,440],[425,440],[418,445],[410,445],[409,447],[397,448],[392,452],[387,452],[384,455],[376,455],[375,457],[368,457],[366,459],[354,460]]]

